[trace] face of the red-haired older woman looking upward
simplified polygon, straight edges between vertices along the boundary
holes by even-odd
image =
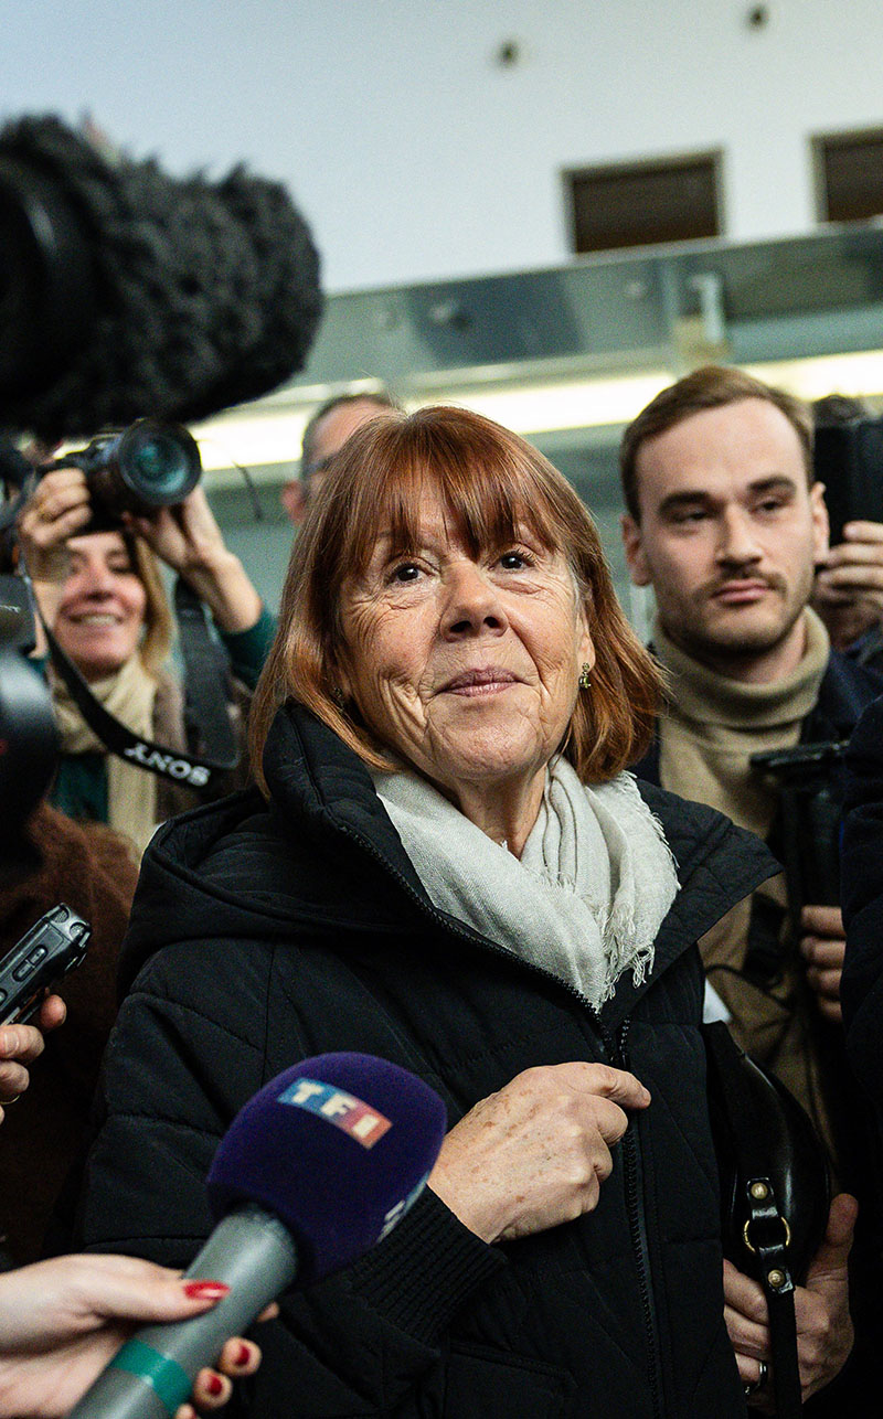
[[[365,576],[344,586],[342,630],[345,694],[461,805],[534,785],[595,660],[565,558],[524,529],[473,556],[437,498],[413,552],[392,558],[382,535]]]

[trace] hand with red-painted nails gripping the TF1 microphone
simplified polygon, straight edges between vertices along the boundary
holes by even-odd
[[[128,1256],[62,1256],[4,1273],[0,1419],[67,1415],[136,1324],[202,1315],[226,1294],[224,1286],[185,1281],[176,1271]],[[231,1392],[226,1376],[251,1375],[258,1364],[257,1345],[234,1337],[219,1359],[224,1374],[199,1372],[194,1401],[210,1409],[226,1403]],[[182,1405],[176,1419],[194,1419],[192,1405]]]

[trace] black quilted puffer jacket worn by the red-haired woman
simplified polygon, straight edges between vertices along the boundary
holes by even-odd
[[[653,1101],[595,1212],[486,1246],[429,1191],[342,1276],[261,1328],[256,1419],[734,1416],[694,948],[775,870],[706,807],[642,789],[683,888],[649,982],[600,1019],[572,988],[429,902],[362,763],[283,711],[257,793],[162,829],[125,952],[79,1242],[186,1263],[233,1114],[298,1057],[363,1050],[422,1074],[453,1125],[522,1070],[608,1060]],[[321,1179],[318,1181],[321,1185]]]

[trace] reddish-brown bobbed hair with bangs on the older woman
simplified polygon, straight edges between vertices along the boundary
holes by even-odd
[[[564,752],[583,782],[613,778],[650,741],[660,683],[619,606],[595,524],[569,482],[524,438],[468,410],[430,406],[413,414],[390,410],[356,430],[301,528],[251,710],[258,782],[265,788],[264,744],[285,700],[304,704],[368,765],[392,766],[385,745],[335,695],[341,589],[366,570],[382,534],[392,535],[395,551],[416,545],[427,490],[440,494],[473,552],[500,548],[525,526],[566,558],[596,661]]]

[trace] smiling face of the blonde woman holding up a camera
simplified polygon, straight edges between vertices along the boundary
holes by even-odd
[[[138,648],[146,592],[119,532],[68,541],[55,639],[87,680],[112,675]]]

